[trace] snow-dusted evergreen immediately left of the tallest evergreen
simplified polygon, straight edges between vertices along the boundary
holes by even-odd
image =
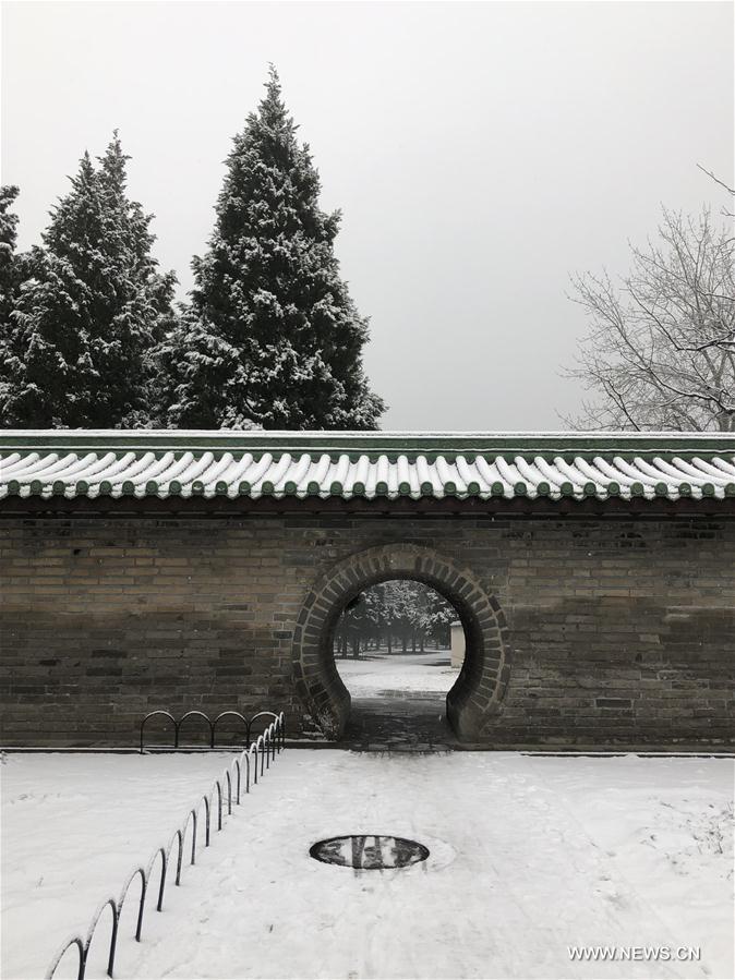
[[[117,133],[88,154],[28,259],[5,355],[0,419],[20,427],[156,421],[153,351],[171,329],[172,274],[156,271],[150,215],[125,193]]]

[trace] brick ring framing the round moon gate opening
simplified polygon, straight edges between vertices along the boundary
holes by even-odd
[[[389,579],[431,585],[457,610],[467,653],[447,694],[447,717],[459,738],[486,740],[510,672],[505,616],[495,596],[471,571],[413,545],[387,545],[352,555],[333,566],[310,590],[293,636],[296,688],[308,712],[325,735],[341,736],[351,699],[335,665],[334,629],[347,603]]]

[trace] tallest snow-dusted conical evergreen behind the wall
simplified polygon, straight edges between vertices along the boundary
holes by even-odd
[[[170,423],[375,428],[384,404],[362,370],[368,322],[334,254],[339,213],[318,207],[318,173],[274,69],[227,167],[191,306],[165,346]]]

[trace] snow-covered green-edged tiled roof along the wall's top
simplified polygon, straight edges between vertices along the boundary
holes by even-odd
[[[735,434],[0,432],[0,498],[735,497]]]

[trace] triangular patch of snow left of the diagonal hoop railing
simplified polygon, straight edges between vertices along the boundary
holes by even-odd
[[[234,755],[3,754],[2,969],[43,977],[62,941],[168,845]]]

